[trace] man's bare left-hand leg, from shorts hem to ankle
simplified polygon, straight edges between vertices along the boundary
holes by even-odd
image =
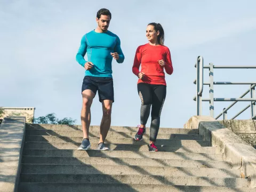
[[[83,130],[83,138],[89,139],[89,127],[91,123],[91,105],[95,94],[92,90],[84,90],[83,105],[81,110],[81,124]]]

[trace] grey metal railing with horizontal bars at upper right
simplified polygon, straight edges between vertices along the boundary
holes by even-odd
[[[243,110],[239,111],[237,115],[235,115],[232,119],[236,118],[238,115],[242,114],[246,109],[251,107],[251,118],[256,119],[256,98],[255,98],[255,82],[213,82],[213,69],[214,68],[226,68],[226,69],[255,69],[256,66],[214,66],[213,63],[210,63],[209,66],[204,66],[203,57],[197,57],[197,61],[195,64],[197,69],[197,79],[193,82],[197,85],[197,95],[193,98],[197,101],[197,115],[202,115],[202,101],[209,101],[210,103],[210,115],[214,116],[214,101],[235,101],[231,103],[230,106],[224,108],[222,112],[215,117],[218,119],[221,115],[223,115],[223,119],[227,119],[227,111],[235,105],[238,101],[250,101],[250,105],[246,106]],[[209,69],[210,82],[203,82],[203,69]],[[210,91],[210,99],[202,99],[203,93],[203,85],[209,85]],[[250,85],[250,89],[247,90],[241,97],[239,98],[213,98],[213,85]],[[251,98],[243,98],[247,93],[251,93]]]

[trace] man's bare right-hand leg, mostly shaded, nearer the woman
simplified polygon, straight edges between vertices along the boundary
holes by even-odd
[[[111,124],[111,109],[112,109],[111,100],[103,100],[102,101],[102,111],[103,116],[100,123],[100,140],[99,143],[103,143],[107,137],[108,130]]]

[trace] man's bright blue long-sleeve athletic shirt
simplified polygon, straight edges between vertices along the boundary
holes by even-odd
[[[117,62],[124,62],[120,39],[110,31],[96,33],[92,30],[82,37],[81,45],[76,54],[76,61],[83,67],[87,62],[84,59],[86,52],[88,61],[93,63],[93,67],[85,71],[85,76],[112,77],[111,62],[113,57],[110,53],[117,52],[119,54]]]

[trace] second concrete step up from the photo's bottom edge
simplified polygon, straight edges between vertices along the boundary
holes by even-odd
[[[242,178],[175,177],[162,175],[106,175],[106,174],[20,174],[20,182],[61,183],[125,183],[151,185],[189,185],[249,188],[250,182]]]

